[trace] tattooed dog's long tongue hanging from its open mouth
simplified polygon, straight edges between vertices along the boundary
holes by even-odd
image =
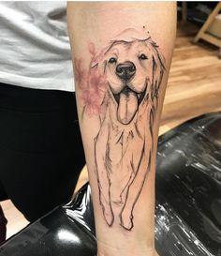
[[[133,91],[120,94],[117,110],[118,121],[127,125],[138,110],[138,97]]]

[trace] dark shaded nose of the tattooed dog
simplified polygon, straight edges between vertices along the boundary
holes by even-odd
[[[116,68],[116,74],[120,79],[129,80],[136,72],[136,67],[133,62],[126,61],[122,64],[118,64]]]

